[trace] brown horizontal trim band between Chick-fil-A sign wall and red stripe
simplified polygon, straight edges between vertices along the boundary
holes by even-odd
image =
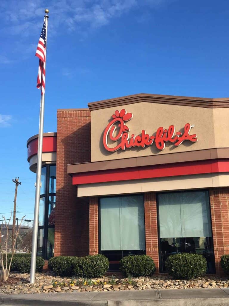
[[[148,165],[168,164],[174,162],[188,162],[206,159],[229,158],[229,148],[213,148],[197,151],[168,153],[163,155],[150,155],[131,157],[125,159],[105,160],[101,162],[85,162],[67,165],[67,173],[80,173],[89,171],[130,168]]]

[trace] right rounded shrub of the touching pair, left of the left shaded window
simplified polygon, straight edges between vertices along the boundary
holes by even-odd
[[[109,261],[106,256],[89,255],[80,257],[77,265],[74,267],[74,274],[85,278],[103,276],[109,268]]]

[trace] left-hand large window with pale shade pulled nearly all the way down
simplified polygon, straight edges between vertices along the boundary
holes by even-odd
[[[100,251],[113,263],[128,254],[145,253],[142,195],[100,199]]]

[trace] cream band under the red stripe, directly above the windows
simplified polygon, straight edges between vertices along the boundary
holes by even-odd
[[[105,196],[152,191],[188,190],[199,188],[226,187],[228,173],[196,174],[159,177],[144,180],[117,181],[78,185],[78,196]]]

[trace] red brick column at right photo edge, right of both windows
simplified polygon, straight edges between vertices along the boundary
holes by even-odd
[[[220,257],[229,254],[229,188],[209,190],[216,274],[223,274]]]

